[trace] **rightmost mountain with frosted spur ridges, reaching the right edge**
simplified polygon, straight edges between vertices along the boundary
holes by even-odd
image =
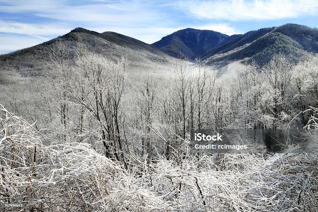
[[[209,65],[224,66],[233,61],[266,64],[274,55],[283,54],[297,61],[307,52],[318,52],[318,29],[298,24],[263,28],[240,35],[204,54]]]

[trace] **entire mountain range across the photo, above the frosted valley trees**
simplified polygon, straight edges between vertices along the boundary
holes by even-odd
[[[284,24],[228,36],[211,30],[186,28],[167,35],[153,44],[146,44],[116,32],[99,33],[77,27],[63,36],[42,44],[2,54],[0,61],[4,65],[13,65],[23,75],[28,75],[26,72],[36,73],[37,71],[33,70],[36,65],[32,64],[32,61],[38,52],[44,51],[45,48],[47,48],[45,51],[48,51],[49,46],[58,42],[63,43],[70,54],[73,54],[75,47],[82,43],[87,50],[114,60],[127,56],[135,68],[138,67],[135,61],[149,64],[164,63],[168,60],[171,62],[171,56],[177,57],[180,52],[190,60],[199,56],[207,65],[222,67],[233,61],[255,61],[264,65],[277,54],[284,54],[295,61],[307,52],[317,53],[318,29],[298,24]],[[45,55],[45,52],[43,54]],[[20,63],[22,65],[17,65]],[[26,69],[29,71],[25,71]]]

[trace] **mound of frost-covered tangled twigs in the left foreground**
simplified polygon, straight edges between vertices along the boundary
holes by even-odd
[[[2,204],[41,211],[127,211],[163,205],[89,144],[44,146],[32,125],[3,106],[0,111]]]

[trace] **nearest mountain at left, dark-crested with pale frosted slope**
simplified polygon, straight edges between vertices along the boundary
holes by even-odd
[[[77,49],[85,49],[101,54],[111,60],[125,57],[128,72],[158,71],[164,66],[171,67],[172,57],[160,49],[115,32],[98,33],[83,28],[75,28],[69,33],[29,48],[0,55],[0,74],[15,74],[22,77],[41,75],[45,60],[52,53],[54,45],[62,44],[65,54],[75,55]],[[1,82],[0,84],[4,83]]]

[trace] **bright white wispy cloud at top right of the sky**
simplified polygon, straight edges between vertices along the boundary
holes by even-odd
[[[180,1],[177,7],[201,19],[274,20],[316,15],[317,0]]]

